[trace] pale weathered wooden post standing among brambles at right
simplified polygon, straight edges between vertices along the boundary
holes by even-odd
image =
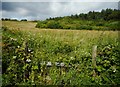
[[[97,56],[97,45],[93,46],[92,49],[92,66],[93,66],[93,76],[96,76],[95,68],[96,68],[96,56]]]

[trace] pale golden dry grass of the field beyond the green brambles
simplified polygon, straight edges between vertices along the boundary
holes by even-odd
[[[118,31],[95,31],[95,30],[61,30],[61,29],[38,29],[35,28],[36,22],[16,22],[16,21],[3,21],[3,26],[9,27],[14,30],[24,31],[27,35],[33,37],[45,37],[51,40],[61,40],[67,42],[90,42],[98,41],[104,37],[104,40],[118,38]]]

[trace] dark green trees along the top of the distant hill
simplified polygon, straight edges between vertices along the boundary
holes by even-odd
[[[119,20],[120,19],[120,10],[117,9],[102,9],[101,12],[89,11],[87,14],[75,14],[71,16],[67,16],[68,18],[72,19],[82,19],[82,20]],[[55,18],[48,18],[47,20],[60,20],[65,17],[55,17]]]

